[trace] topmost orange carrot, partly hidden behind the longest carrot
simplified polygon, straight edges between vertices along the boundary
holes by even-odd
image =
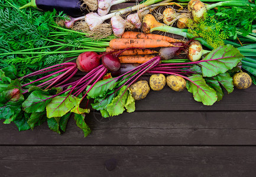
[[[167,41],[170,43],[173,42],[182,42],[180,40],[176,40],[174,38],[170,38],[164,35],[159,35],[159,34],[145,34],[143,32],[135,32],[135,31],[125,31],[124,34],[122,35],[122,38],[132,38],[132,39],[137,39],[137,38],[141,38],[141,39],[155,39],[155,40],[163,40],[163,41]]]

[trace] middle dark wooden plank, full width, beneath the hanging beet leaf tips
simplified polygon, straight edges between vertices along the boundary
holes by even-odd
[[[0,145],[256,145],[256,112],[135,112],[100,123],[83,137],[73,119],[58,135],[47,124],[18,132],[0,124]],[[106,119],[105,119],[106,120]]]

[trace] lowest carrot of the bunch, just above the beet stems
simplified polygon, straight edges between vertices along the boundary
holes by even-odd
[[[154,57],[156,57],[156,55],[125,55],[125,56],[120,56],[118,58],[120,60],[120,63],[142,64]]]

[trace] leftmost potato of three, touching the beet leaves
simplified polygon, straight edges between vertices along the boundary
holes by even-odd
[[[132,84],[129,89],[135,100],[145,99],[148,92],[150,92],[150,86],[148,86],[148,82],[145,80],[137,81],[137,83]]]

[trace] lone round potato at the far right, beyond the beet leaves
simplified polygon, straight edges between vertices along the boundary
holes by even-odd
[[[252,83],[251,77],[247,73],[236,73],[233,76],[233,81],[236,89],[247,89]]]

